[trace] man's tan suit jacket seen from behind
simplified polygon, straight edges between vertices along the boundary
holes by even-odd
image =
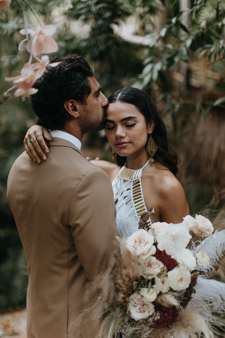
[[[24,152],[8,176],[28,265],[27,338],[83,337],[73,323],[87,306],[84,290],[117,249],[112,185],[71,142],[55,137],[48,146],[46,162]]]

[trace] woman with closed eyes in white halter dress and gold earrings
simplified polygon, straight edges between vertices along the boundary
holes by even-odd
[[[106,134],[117,164],[91,162],[102,168],[112,181],[118,234],[130,236],[138,229],[141,214],[151,207],[154,213],[149,222],[182,222],[189,215],[189,207],[184,190],[174,176],[178,158],[168,151],[166,128],[155,104],[144,92],[130,87],[118,90],[108,100]],[[24,144],[31,159],[29,134],[37,133],[47,140],[50,137],[41,126],[28,130]],[[48,149],[40,139],[42,148]]]

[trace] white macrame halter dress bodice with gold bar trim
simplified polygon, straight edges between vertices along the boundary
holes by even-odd
[[[147,211],[142,187],[141,174],[144,167],[132,170],[123,166],[112,182],[116,205],[116,227],[120,237],[129,237],[138,230],[141,215]],[[151,224],[149,219],[148,223]]]

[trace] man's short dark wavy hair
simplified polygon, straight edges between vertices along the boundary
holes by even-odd
[[[38,92],[30,97],[31,107],[38,116],[37,124],[47,129],[61,129],[70,120],[64,103],[74,99],[85,102],[91,93],[89,76],[94,72],[87,61],[77,55],[55,56],[51,63],[59,62],[56,67],[48,67],[33,85]]]

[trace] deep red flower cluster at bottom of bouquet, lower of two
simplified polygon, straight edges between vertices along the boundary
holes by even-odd
[[[156,304],[154,310],[160,313],[160,318],[154,322],[155,326],[164,328],[172,323],[179,314],[179,309],[176,306],[167,308],[161,304]]]

